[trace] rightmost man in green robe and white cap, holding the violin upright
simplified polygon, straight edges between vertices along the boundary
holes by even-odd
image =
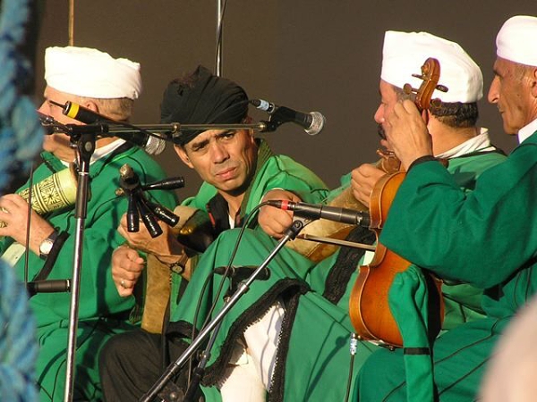
[[[498,105],[504,130],[518,134],[520,145],[483,172],[472,192],[462,190],[435,160],[432,133],[412,102],[398,102],[381,121],[389,147],[408,172],[380,241],[442,278],[485,289],[485,317],[448,331],[430,351],[439,400],[478,397],[492,348],[537,289],[536,223],[528,208],[535,205],[537,185],[537,48],[528,40],[536,36],[537,18],[531,16],[510,18],[499,30],[489,101]],[[371,356],[360,374],[360,400],[411,398],[405,358],[404,350]]]

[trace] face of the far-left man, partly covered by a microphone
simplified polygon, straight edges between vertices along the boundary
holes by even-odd
[[[52,105],[49,101],[53,100],[58,104],[64,105],[67,101],[76,101],[76,96],[60,92],[55,88],[45,88],[45,100],[39,107],[38,111],[47,114],[55,119],[55,121],[63,124],[80,124],[80,122],[67,117],[62,113],[62,108]],[[43,149],[55,154],[60,159],[71,162],[74,159],[74,151],[70,147],[70,139],[66,134],[47,135],[43,139]]]

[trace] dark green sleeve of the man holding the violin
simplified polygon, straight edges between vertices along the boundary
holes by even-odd
[[[418,164],[396,194],[380,242],[440,277],[490,288],[535,255],[534,188],[532,142],[483,172],[471,192],[439,163]]]

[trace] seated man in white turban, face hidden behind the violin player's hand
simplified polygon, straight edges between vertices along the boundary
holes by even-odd
[[[405,96],[401,88],[405,82],[412,80],[412,74],[420,70],[427,57],[436,56],[440,63],[445,64],[446,80],[442,83],[451,88],[451,97],[445,94],[439,94],[439,97],[445,96],[449,107],[440,106],[437,111],[447,115],[444,121],[431,117],[431,130],[434,127],[439,132],[439,155],[450,158],[450,169],[459,185],[473,189],[473,182],[481,172],[505,158],[490,145],[486,130],[475,126],[475,102],[482,96],[479,67],[460,46],[429,34],[388,32],[384,50],[383,71],[390,71],[390,74],[384,76],[383,72],[383,99],[376,114],[378,119],[385,108],[393,107],[398,96]],[[400,70],[397,71],[395,66],[399,66]],[[440,145],[440,141],[445,143]],[[385,141],[383,143],[386,144]],[[368,166],[366,172],[372,169]],[[357,193],[363,190],[351,180],[351,174],[347,174],[342,180],[342,187],[333,190],[328,199],[345,190],[351,191],[350,188]],[[300,202],[303,197],[293,191],[277,189],[269,192],[264,199]],[[292,214],[286,211],[266,206],[261,210],[259,222],[268,235],[278,238],[289,227],[292,218]],[[208,276],[214,267],[228,264],[237,233],[237,230],[229,230],[220,235],[201,258],[194,277]],[[371,232],[360,227],[350,238],[370,244],[374,242]],[[246,230],[234,265],[259,265],[275,245],[275,240],[265,234]],[[349,367],[346,345],[354,331],[348,318],[348,300],[356,267],[361,264],[364,264],[363,250],[349,252],[345,248],[320,263],[314,263],[290,247],[280,250],[268,265],[271,272],[268,280],[254,281],[248,297],[226,315],[202,385],[217,389],[225,378],[226,369],[235,367],[243,381],[262,381],[268,390],[268,400],[342,400],[345,382],[340,380],[341,373]],[[198,313],[194,303],[190,306],[180,304],[170,325],[175,335],[188,339],[196,315],[196,326],[200,329],[200,322],[207,318],[208,306],[213,302],[213,292],[218,284],[219,281],[215,280],[211,290],[203,291],[202,280],[191,282],[184,297],[191,300],[201,297],[203,308]],[[480,297],[480,291],[472,289],[470,296],[474,295]],[[216,311],[222,306],[220,299],[217,298]],[[467,313],[473,310],[474,304],[465,302],[461,306],[458,302],[456,306],[453,320],[447,320],[452,325],[470,319],[471,314]],[[472,314],[479,313],[478,310]],[[266,317],[272,321],[266,320]],[[260,322],[265,329],[260,330]],[[250,357],[246,359],[256,365],[258,374],[241,373],[241,357],[236,357],[241,356],[241,351],[236,354],[234,348],[236,339],[241,339],[243,347],[248,350]],[[360,367],[376,348],[372,343],[362,342],[354,358],[354,368]],[[206,397],[208,395],[209,390]]]

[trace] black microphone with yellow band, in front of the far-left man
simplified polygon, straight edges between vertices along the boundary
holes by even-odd
[[[62,113],[67,117],[71,117],[74,120],[81,121],[86,124],[93,124],[95,122],[111,122],[114,124],[125,125],[121,121],[115,121],[107,118],[102,114],[93,112],[87,107],[81,106],[71,101],[65,102],[65,105],[58,104],[54,101],[49,101],[51,104],[59,106],[63,109]],[[136,130],[133,127],[134,131],[132,133],[114,133],[115,137],[123,138],[125,141],[129,141],[135,146],[145,149],[149,155],[160,155],[166,148],[166,140],[164,138],[159,138],[152,136],[148,131]]]

